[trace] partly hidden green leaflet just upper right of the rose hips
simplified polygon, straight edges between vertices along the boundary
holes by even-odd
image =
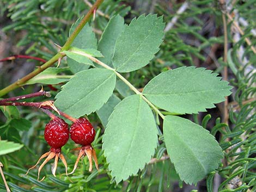
[[[120,102],[120,98],[115,94],[109,98],[109,100],[99,109],[97,110],[97,115],[100,118],[100,121],[104,127],[107,126],[108,117],[114,110],[114,107]]]

